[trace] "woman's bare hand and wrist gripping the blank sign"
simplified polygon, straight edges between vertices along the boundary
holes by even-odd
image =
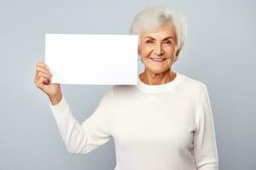
[[[59,83],[50,83],[52,76],[49,67],[43,62],[38,62],[34,78],[35,85],[37,88],[41,89],[44,94],[48,95],[52,105],[56,105],[62,98],[61,85]]]

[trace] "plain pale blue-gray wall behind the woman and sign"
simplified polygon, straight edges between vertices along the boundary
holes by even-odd
[[[0,170],[113,169],[113,139],[87,155],[67,152],[49,100],[34,85],[35,65],[44,61],[45,33],[127,34],[133,16],[148,5],[187,15],[188,38],[173,70],[207,84],[220,169],[255,169],[255,4],[253,0],[0,0]],[[138,65],[139,71],[142,66]],[[82,122],[110,86],[61,88],[73,115]]]

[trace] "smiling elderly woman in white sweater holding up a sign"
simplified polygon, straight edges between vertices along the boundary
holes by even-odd
[[[89,153],[113,137],[115,170],[217,170],[218,150],[207,86],[172,71],[183,48],[186,20],[166,8],[146,8],[131,24],[139,35],[145,70],[137,85],[115,85],[81,124],[60,84],[38,63],[35,83],[50,108],[67,150]]]

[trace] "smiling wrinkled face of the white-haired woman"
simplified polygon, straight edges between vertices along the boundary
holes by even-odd
[[[146,69],[154,73],[169,70],[178,53],[177,37],[172,25],[165,24],[154,31],[140,34],[138,54]]]

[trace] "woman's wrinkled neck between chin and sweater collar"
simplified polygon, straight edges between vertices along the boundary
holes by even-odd
[[[171,71],[171,69],[168,69],[165,72],[161,73],[154,73],[152,71],[149,71],[148,69],[145,69],[143,73],[139,75],[142,82],[148,85],[159,85],[159,84],[165,84],[167,82],[171,82],[175,77],[176,73]]]

